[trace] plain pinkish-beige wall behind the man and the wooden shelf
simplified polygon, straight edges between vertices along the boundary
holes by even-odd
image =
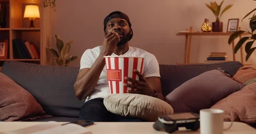
[[[205,6],[209,0],[59,0],[53,19],[53,34],[67,42],[73,42],[70,54],[79,58],[70,66],[79,66],[82,53],[101,45],[103,41],[103,19],[112,11],[122,11],[131,20],[133,38],[130,46],[153,53],[159,64],[175,64],[183,61],[185,37],[179,31],[194,26],[200,31],[204,19],[215,21],[213,13]],[[221,2],[217,0],[218,4]],[[250,29],[249,21],[241,19],[255,8],[252,0],[226,0],[223,6],[234,4],[222,15],[223,31],[228,19],[239,18],[242,29]],[[223,7],[222,7],[223,9]],[[233,60],[228,37],[193,37],[191,62],[203,62],[210,52],[225,51]],[[54,46],[55,47],[55,46]],[[240,60],[239,52],[237,60]],[[245,57],[245,56],[244,56]],[[253,62],[254,61],[254,62]],[[248,61],[256,64],[255,55]]]

